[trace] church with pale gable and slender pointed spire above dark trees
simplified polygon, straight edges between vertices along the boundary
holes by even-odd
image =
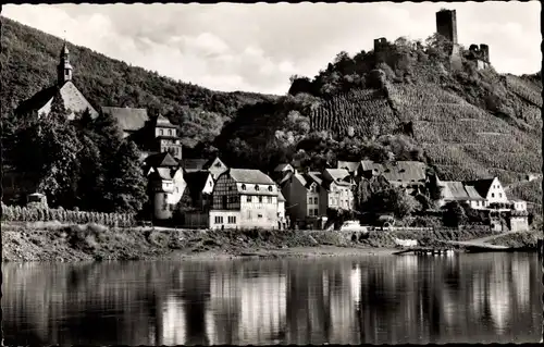
[[[60,96],[64,108],[69,112],[69,120],[74,120],[76,113],[85,111],[88,111],[91,117],[97,117],[98,112],[74,85],[72,74],[73,66],[70,63],[70,51],[66,42],[64,42],[60,52],[59,64],[57,65],[57,83],[21,102],[15,112],[17,114],[36,112],[38,116],[47,115],[51,111],[53,98]]]

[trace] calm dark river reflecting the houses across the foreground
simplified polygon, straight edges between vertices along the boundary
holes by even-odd
[[[536,253],[2,264],[8,345],[534,343]]]

